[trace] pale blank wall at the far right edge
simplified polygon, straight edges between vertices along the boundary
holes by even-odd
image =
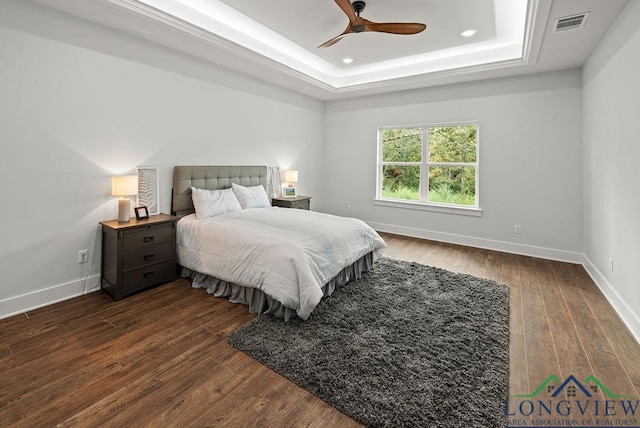
[[[587,61],[583,133],[588,268],[640,341],[639,23],[631,1]]]

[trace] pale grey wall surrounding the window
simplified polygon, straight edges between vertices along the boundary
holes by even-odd
[[[329,102],[325,207],[381,230],[580,260],[579,70]],[[379,126],[478,121],[482,217],[376,206]],[[514,225],[522,234],[514,234]]]

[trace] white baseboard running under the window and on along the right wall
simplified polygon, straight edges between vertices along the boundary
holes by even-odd
[[[431,230],[414,229],[410,227],[395,226],[390,224],[369,222],[367,224],[380,232],[396,235],[423,238],[432,241],[446,242],[449,244],[465,245],[467,247],[484,248],[487,250],[501,251],[504,253],[520,254],[523,256],[538,257],[542,259],[557,260],[562,262],[577,263],[584,266],[609,304],[616,311],[622,322],[627,326],[636,341],[640,343],[640,314],[636,314],[624,301],[613,286],[606,280],[589,258],[582,253],[553,250],[549,248],[534,247],[530,245],[513,244],[510,242],[493,241],[490,239],[474,238],[451,233],[435,232]]]

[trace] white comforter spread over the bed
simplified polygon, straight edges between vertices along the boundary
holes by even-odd
[[[321,287],[386,244],[364,222],[313,211],[256,208],[205,220],[178,222],[178,263],[191,270],[254,287],[307,319]]]

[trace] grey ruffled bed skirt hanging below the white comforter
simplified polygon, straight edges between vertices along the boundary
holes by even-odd
[[[371,252],[356,260],[352,265],[342,269],[338,275],[322,287],[323,297],[332,295],[337,287],[359,279],[363,272],[371,269],[374,262],[374,254]],[[243,287],[187,268],[182,269],[182,276],[185,278],[190,277],[193,280],[192,285],[194,288],[205,288],[207,293],[216,297],[225,297],[230,302],[247,305],[249,312],[268,314],[276,318],[282,318],[285,321],[298,316],[295,308],[284,306],[257,288]],[[313,316],[313,313],[311,316]]]

